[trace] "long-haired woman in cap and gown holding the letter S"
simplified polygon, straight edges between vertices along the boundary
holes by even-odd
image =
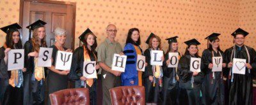
[[[45,25],[42,20],[37,20],[29,25],[29,40],[24,44],[25,67],[24,73],[24,104],[44,104],[44,78],[46,68],[38,67],[38,53],[40,47],[47,47],[45,41]],[[32,39],[31,31],[33,31]]]

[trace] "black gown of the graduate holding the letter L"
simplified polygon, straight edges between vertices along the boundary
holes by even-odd
[[[150,64],[150,49],[145,50],[144,54],[146,57],[147,66],[145,67],[145,71],[142,74],[143,85],[145,87],[145,99],[147,103],[158,103],[161,102],[160,99],[160,86],[159,79],[156,78],[155,87],[153,87],[154,82],[151,82],[148,79],[148,76],[154,76],[152,65]]]

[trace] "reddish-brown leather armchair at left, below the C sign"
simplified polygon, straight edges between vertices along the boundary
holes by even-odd
[[[88,88],[70,88],[50,94],[51,104],[90,104]]]

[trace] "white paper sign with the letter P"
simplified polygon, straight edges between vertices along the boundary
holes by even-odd
[[[8,71],[24,68],[24,49],[13,49],[8,52]]]

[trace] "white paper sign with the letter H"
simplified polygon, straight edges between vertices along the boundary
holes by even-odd
[[[126,65],[127,56],[126,55],[119,55],[114,54],[113,56],[113,63],[112,63],[112,70],[114,71],[125,71],[125,65]]]

